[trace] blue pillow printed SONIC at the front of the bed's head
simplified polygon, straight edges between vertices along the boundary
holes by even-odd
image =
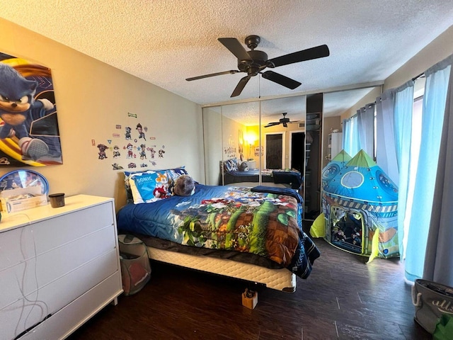
[[[130,175],[129,179],[134,204],[151,203],[169,198],[166,171],[146,171]]]

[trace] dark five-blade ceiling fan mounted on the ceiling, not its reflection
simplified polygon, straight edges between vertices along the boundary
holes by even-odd
[[[275,83],[285,86],[288,89],[294,90],[297,86],[301,85],[299,81],[295,81],[294,79],[285,77],[282,74],[278,74],[273,71],[262,72],[263,69],[266,67],[273,69],[274,67],[293,64],[294,62],[304,62],[306,60],[328,57],[330,54],[327,45],[319,45],[268,60],[268,55],[265,54],[265,52],[255,50],[261,41],[261,38],[258,37],[258,35],[248,35],[246,38],[245,43],[248,48],[250,48],[250,51],[246,51],[246,49],[241,45],[241,42],[239,42],[236,38],[218,38],[217,40],[219,40],[219,42],[221,42],[231,53],[233,53],[236,58],[238,58],[239,70],[231,69],[230,71],[205,74],[198,77],[187,78],[185,80],[193,81],[207,77],[220,76],[222,74],[245,72],[247,74],[246,77],[243,77],[239,81],[231,94],[231,97],[239,96],[251,77],[255,77],[258,74],[261,74],[264,79],[274,81]]]

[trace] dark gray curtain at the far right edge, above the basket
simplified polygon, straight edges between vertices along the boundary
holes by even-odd
[[[423,278],[453,287],[453,72],[449,74],[447,102],[437,164],[432,215]]]

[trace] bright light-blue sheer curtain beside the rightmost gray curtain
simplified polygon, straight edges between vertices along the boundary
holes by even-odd
[[[422,144],[418,157],[405,260],[405,276],[411,281],[423,276],[450,69],[451,58],[447,58],[425,72]],[[451,201],[449,203],[451,204]],[[437,214],[435,211],[433,216]]]

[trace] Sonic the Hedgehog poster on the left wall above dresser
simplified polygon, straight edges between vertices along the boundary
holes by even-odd
[[[50,69],[0,52],[0,166],[62,164]]]

